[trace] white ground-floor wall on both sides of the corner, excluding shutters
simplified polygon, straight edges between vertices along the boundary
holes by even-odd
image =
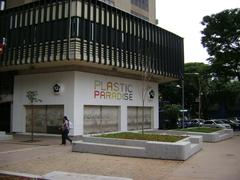
[[[130,85],[132,100],[116,100],[109,98],[102,99],[94,97],[94,91],[101,91],[101,87],[95,89],[95,81],[102,83],[124,83]],[[60,83],[64,91],[60,95],[54,95],[52,87],[55,83]],[[155,92],[155,98],[146,98],[145,106],[153,108],[154,122],[153,128],[158,128],[158,84],[149,83]],[[103,87],[106,88],[106,87]],[[109,88],[110,89],[110,88]],[[110,91],[108,89],[108,91]],[[142,82],[137,80],[103,76],[84,72],[58,72],[48,74],[19,75],[14,82],[14,104],[13,104],[13,129],[14,132],[25,132],[25,108],[29,104],[26,92],[37,90],[41,105],[64,105],[64,114],[67,115],[74,124],[72,135],[83,134],[84,105],[113,105],[120,107],[120,130],[127,130],[127,106],[142,106]],[[114,90],[117,90],[116,88]],[[106,90],[107,91],[107,90]],[[120,92],[121,91],[113,91]]]

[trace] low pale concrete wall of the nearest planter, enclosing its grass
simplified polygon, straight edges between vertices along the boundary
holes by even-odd
[[[72,147],[73,152],[172,160],[186,160],[201,149],[201,136],[175,143],[84,136]]]

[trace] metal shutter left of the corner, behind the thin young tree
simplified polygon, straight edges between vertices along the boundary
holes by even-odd
[[[26,106],[26,132],[31,132],[31,106]],[[59,134],[64,107],[62,105],[33,106],[34,132]]]

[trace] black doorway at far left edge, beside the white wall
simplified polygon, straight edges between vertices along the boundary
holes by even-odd
[[[11,102],[0,104],[0,131],[10,132]]]

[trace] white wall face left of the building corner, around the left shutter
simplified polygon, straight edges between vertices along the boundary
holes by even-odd
[[[54,95],[53,86],[61,83],[64,91]],[[74,72],[51,74],[31,74],[15,76],[13,96],[13,127],[14,132],[25,132],[25,107],[29,105],[27,91],[38,91],[38,98],[42,100],[38,105],[64,105],[64,114],[74,119]]]

